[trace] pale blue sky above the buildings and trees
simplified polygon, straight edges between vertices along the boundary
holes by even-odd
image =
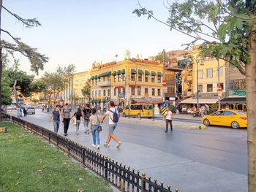
[[[168,12],[164,2],[140,0],[143,7],[165,21]],[[4,0],[3,5],[22,18],[37,18],[42,24],[25,28],[2,9],[1,28],[48,56],[39,76],[53,72],[58,65],[74,64],[76,72],[83,72],[91,69],[94,61],[122,61],[126,50],[131,58],[137,54],[148,58],[163,49],[184,50],[181,45],[192,40],[146,16],[132,14],[138,8],[138,0]],[[3,39],[12,42],[4,34]],[[15,56],[20,59],[20,68],[33,74],[29,60]]]

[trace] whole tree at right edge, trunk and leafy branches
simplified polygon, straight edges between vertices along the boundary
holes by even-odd
[[[256,1],[186,0],[167,2],[170,17],[157,19],[140,5],[133,13],[147,15],[170,30],[192,37],[187,47],[200,43],[200,56],[223,59],[246,75],[248,118],[248,191],[256,191]]]

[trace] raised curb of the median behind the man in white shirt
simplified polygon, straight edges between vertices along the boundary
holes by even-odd
[[[156,122],[156,121],[143,121],[143,120],[131,120],[131,119],[123,119],[120,118],[119,122],[121,123],[132,123],[132,124],[143,124],[143,125],[151,125],[151,126],[165,126],[165,122]],[[187,128],[187,129],[206,129],[205,125],[198,125],[198,126],[180,126],[180,125],[173,125],[173,128]]]

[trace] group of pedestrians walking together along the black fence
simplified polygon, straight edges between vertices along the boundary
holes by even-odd
[[[76,134],[79,134],[80,124],[83,124],[85,133],[92,135],[93,147],[99,149],[99,133],[102,131],[102,125],[105,118],[108,117],[108,138],[104,145],[110,146],[110,141],[113,139],[116,142],[116,147],[120,147],[121,141],[117,139],[114,131],[118,123],[118,110],[115,107],[113,101],[108,102],[108,106],[105,108],[105,114],[101,114],[101,110],[97,107],[91,107],[90,104],[86,106],[78,106],[75,113],[72,112],[69,104],[64,104],[64,107],[56,105],[51,112],[50,121],[53,121],[54,132],[58,133],[61,122],[63,123],[64,136],[67,137],[70,121],[75,125]]]

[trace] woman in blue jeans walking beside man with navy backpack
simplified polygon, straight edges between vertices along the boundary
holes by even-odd
[[[92,147],[97,146],[97,150],[99,150],[99,127],[100,119],[97,115],[97,110],[93,108],[91,110],[91,117],[89,118],[89,130],[91,131],[93,144]]]

